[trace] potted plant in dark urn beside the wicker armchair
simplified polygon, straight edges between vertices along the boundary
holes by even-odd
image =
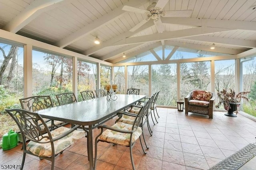
[[[216,105],[216,108],[219,108],[220,105],[223,103],[224,109],[228,111],[228,113],[226,113],[225,115],[230,117],[236,117],[233,112],[236,111],[237,106],[240,105],[241,99],[245,99],[246,101],[248,101],[248,98],[245,96],[248,93],[250,93],[250,91],[240,92],[236,94],[235,91],[232,89],[230,89],[230,91],[222,89],[222,91],[217,93],[219,103]]]

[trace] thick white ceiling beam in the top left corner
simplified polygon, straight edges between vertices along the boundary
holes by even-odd
[[[18,16],[6,24],[6,26],[4,26],[2,29],[8,32],[16,33],[40,14],[55,8],[55,6],[62,1],[63,0],[34,0],[34,2],[28,5],[28,7],[26,7]]]

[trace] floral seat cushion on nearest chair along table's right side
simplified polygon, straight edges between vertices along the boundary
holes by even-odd
[[[112,127],[120,130],[132,130],[132,125],[122,122],[117,122]],[[132,143],[135,142],[140,137],[141,134],[142,129],[138,127],[136,131],[132,134]],[[130,137],[131,134],[129,133],[121,133],[107,129],[99,136],[98,139],[109,143],[119,144],[122,146],[129,146]]]

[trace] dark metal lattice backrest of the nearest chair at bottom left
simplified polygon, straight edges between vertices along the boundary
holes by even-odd
[[[37,143],[45,143],[44,139],[52,139],[48,126],[38,113],[24,109],[5,110],[20,128],[23,142],[26,143],[26,139],[28,139]]]

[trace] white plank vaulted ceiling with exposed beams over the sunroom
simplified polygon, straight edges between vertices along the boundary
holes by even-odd
[[[174,12],[158,17],[161,32],[144,13],[154,0],[0,0],[0,29],[110,63],[166,45],[227,54],[256,47],[255,0],[159,1]]]

